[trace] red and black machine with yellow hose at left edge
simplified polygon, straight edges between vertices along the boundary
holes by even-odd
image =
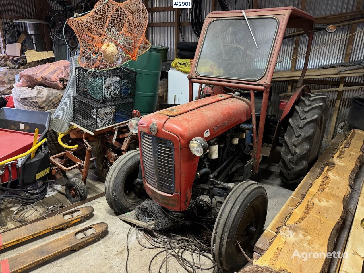
[[[46,195],[50,161],[44,137],[49,122],[50,113],[0,108],[0,201],[33,203]],[[31,188],[36,182],[40,186]]]

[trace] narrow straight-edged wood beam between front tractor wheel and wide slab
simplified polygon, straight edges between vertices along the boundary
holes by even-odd
[[[258,256],[260,256],[265,252],[265,250],[268,249],[270,242],[276,236],[278,227],[284,224],[292,210],[297,206],[298,202],[300,202],[302,195],[306,193],[312,182],[321,173],[321,169],[327,165],[329,158],[331,158],[331,156],[339,149],[340,143],[343,142],[344,139],[345,135],[337,134],[330,145],[326,148],[324,153],[320,156],[320,158],[318,158],[305,178],[302,179],[300,185],[297,186],[296,190],[294,190],[292,195],[286,201],[285,205],[278,212],[276,217],[274,217],[273,221],[269,224],[262,236],[256,242],[254,246],[254,252],[256,255],[258,254]]]

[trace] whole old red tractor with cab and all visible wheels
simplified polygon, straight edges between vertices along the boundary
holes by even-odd
[[[211,254],[223,269],[246,263],[237,240],[251,256],[266,219],[266,191],[248,179],[258,171],[272,75],[287,28],[301,28],[308,46],[271,150],[284,129],[282,180],[298,183],[305,176],[320,151],[328,110],[327,96],[302,86],[314,17],[294,7],[211,12],[188,76],[190,102],[128,123],[139,149],[119,157],[107,174],[106,199],[115,212],[130,211],[146,198],[183,211],[191,198],[224,197]],[[200,84],[194,101],[192,83]],[[213,95],[213,87],[230,91]]]

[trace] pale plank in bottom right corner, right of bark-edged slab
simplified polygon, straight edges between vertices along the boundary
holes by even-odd
[[[359,202],[350,230],[345,252],[348,257],[342,259],[340,273],[363,272],[364,261],[364,187],[361,189]]]

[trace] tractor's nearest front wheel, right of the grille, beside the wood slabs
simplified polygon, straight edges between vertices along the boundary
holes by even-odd
[[[267,216],[267,193],[253,181],[238,184],[227,195],[214,225],[211,254],[217,265],[225,270],[241,269],[253,257],[254,244],[261,236]]]

